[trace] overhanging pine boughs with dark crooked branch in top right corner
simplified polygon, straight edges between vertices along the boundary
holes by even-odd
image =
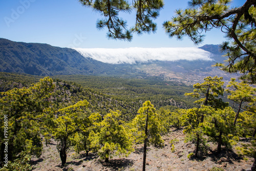
[[[227,72],[241,72],[245,81],[256,81],[255,53],[255,5],[247,0],[239,8],[231,8],[230,0],[191,0],[189,8],[176,10],[176,16],[165,22],[164,28],[170,36],[181,39],[187,35],[195,44],[203,41],[203,32],[221,28],[231,41],[223,42],[222,50],[227,51],[228,65],[216,66]]]

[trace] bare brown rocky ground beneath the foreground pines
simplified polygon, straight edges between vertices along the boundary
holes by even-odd
[[[223,168],[223,170],[250,170],[253,158],[243,158],[236,154],[234,149],[223,150],[218,156],[210,152],[201,153],[199,158],[187,158],[188,154],[193,153],[195,145],[184,142],[182,130],[172,130],[167,136],[164,136],[164,147],[156,148],[150,146],[146,158],[146,170],[210,170],[213,167]],[[172,147],[174,144],[174,148]],[[214,148],[214,144],[211,147]],[[173,148],[173,151],[172,151]],[[135,147],[129,157],[114,157],[109,163],[100,161],[96,153],[90,153],[87,157],[84,152],[76,154],[70,150],[67,158],[67,165],[61,166],[61,161],[56,149],[56,142],[44,146],[44,153],[40,158],[33,158],[32,164],[35,171],[39,170],[142,170],[143,148],[142,145]]]

